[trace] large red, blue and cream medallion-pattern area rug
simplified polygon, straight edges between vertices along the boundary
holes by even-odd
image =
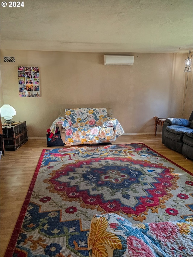
[[[191,173],[142,143],[44,149],[5,256],[88,256],[95,214],[193,217]]]

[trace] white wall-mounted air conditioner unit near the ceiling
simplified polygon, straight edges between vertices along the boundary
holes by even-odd
[[[133,65],[134,56],[130,55],[105,55],[104,65]]]

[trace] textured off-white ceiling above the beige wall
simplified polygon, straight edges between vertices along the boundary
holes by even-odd
[[[8,5],[0,7],[2,49],[193,50],[192,0],[24,0],[24,7]]]

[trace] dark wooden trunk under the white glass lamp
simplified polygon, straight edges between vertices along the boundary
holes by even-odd
[[[17,150],[20,146],[27,142],[27,138],[27,126],[25,121],[20,122],[17,125],[3,127],[5,151]]]

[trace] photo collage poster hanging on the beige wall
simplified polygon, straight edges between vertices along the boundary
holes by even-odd
[[[19,96],[40,97],[39,67],[18,66]]]

